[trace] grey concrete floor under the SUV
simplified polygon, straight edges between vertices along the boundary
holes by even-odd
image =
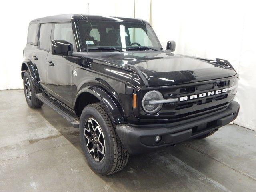
[[[255,132],[227,125],[214,135],[131,156],[121,172],[92,172],[78,129],[27,106],[23,90],[0,91],[0,191],[256,191]]]

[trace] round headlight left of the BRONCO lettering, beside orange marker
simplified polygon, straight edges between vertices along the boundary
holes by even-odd
[[[149,104],[148,102],[163,98],[163,95],[159,91],[149,91],[142,99],[142,107],[147,113],[156,113],[162,108],[163,104]]]

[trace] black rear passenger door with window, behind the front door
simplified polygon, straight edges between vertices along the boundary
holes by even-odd
[[[46,87],[46,58],[50,50],[52,24],[40,24],[37,49],[32,54],[32,61],[38,69],[40,84]]]

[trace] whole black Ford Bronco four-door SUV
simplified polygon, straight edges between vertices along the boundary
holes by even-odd
[[[50,106],[80,130],[92,169],[129,154],[204,138],[234,120],[238,74],[227,60],[163,50],[140,19],[65,14],[32,20],[21,77],[31,108]]]

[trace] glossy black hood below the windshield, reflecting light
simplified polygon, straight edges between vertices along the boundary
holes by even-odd
[[[149,86],[175,85],[236,75],[229,66],[164,51],[91,52],[95,59],[126,67],[132,65]]]

